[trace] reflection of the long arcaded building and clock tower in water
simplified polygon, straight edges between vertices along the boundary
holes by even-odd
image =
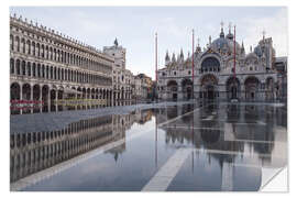
[[[112,114],[80,120],[57,131],[10,134],[10,180],[52,167],[108,143],[123,143],[106,153],[114,161],[125,151],[125,132],[134,124],[152,119],[152,110],[138,110],[130,114]]]

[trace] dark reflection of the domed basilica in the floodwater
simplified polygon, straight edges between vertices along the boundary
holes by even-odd
[[[168,110],[167,118],[177,117],[178,112],[183,113],[187,108],[184,106]],[[165,131],[165,142],[169,147],[183,145],[232,152],[232,157],[223,162],[243,154],[253,154],[258,157],[260,164],[271,164],[275,145],[286,141],[286,112],[273,106],[210,105],[161,129]]]

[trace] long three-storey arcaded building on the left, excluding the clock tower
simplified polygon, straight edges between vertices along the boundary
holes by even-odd
[[[70,98],[100,100],[109,106],[113,64],[112,57],[95,47],[22,16],[10,18],[12,101],[40,101],[46,107],[41,111]]]

